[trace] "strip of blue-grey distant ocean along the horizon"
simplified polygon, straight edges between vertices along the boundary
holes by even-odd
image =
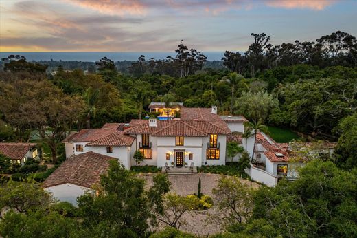
[[[10,54],[25,56],[27,61],[97,61],[106,56],[113,61],[136,61],[144,55],[146,60],[150,58],[165,59],[167,56],[175,56],[175,52],[0,52],[0,58]],[[208,61],[220,61],[224,52],[203,52]]]

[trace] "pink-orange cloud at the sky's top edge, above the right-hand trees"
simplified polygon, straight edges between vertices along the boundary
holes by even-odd
[[[312,10],[323,10],[334,2],[334,0],[270,0],[266,2],[266,5],[275,8],[309,8]]]

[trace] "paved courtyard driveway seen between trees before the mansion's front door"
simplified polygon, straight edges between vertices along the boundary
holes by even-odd
[[[146,186],[152,186],[152,174],[144,174],[141,176],[147,181]],[[218,184],[220,176],[221,175],[217,174],[196,173],[192,175],[170,175],[168,178],[172,183],[171,192],[183,196],[197,193],[198,179],[200,178],[202,193],[211,196],[215,201],[212,189]],[[242,182],[253,187],[259,186],[249,180],[242,179]],[[185,213],[183,219],[186,220],[186,224],[182,224],[180,230],[191,232],[199,236],[207,236],[220,232],[224,224],[212,218],[216,217],[219,212],[220,211],[214,206],[206,211]],[[161,227],[163,227],[163,224],[161,224]]]

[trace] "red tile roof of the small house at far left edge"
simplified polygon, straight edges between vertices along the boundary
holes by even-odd
[[[0,143],[0,153],[12,160],[21,160],[36,145],[35,143]]]

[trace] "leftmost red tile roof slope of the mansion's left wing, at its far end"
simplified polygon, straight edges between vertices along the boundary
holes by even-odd
[[[120,123],[106,123],[100,129],[82,129],[78,133],[67,137],[63,142],[91,142],[117,131],[119,126]]]

